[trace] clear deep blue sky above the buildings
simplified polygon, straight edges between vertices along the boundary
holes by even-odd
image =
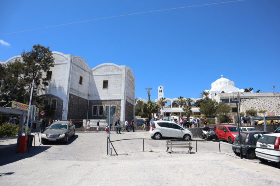
[[[90,67],[132,68],[135,96],[198,97],[223,74],[244,89],[279,90],[280,0],[246,0],[69,22],[230,0],[0,0],[0,61],[34,44],[83,57]],[[5,35],[6,34],[6,35]],[[2,41],[1,41],[2,40]],[[6,43],[5,43],[6,42]]]

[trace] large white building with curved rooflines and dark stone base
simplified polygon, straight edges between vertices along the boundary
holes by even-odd
[[[103,63],[90,68],[79,56],[52,52],[54,67],[47,74],[49,85],[40,92],[51,105],[54,119],[106,119],[109,106],[114,120],[134,118],[135,77],[130,67]],[[15,56],[3,65],[12,63]]]

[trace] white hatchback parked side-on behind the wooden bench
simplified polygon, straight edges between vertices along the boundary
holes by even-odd
[[[184,140],[191,140],[193,138],[193,135],[189,130],[184,129],[171,121],[152,122],[149,134],[151,135],[151,138],[157,140],[162,137],[182,138]]]

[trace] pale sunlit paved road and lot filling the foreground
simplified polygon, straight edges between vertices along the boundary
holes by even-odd
[[[68,144],[32,147],[30,153],[0,150],[2,186],[54,185],[280,185],[276,165],[258,160],[240,160],[224,143],[198,142],[198,152],[167,154],[165,141],[114,142],[119,156],[106,155],[104,132],[76,133]],[[111,134],[112,140],[150,138],[148,132]],[[226,144],[226,145],[225,145]],[[36,145],[39,143],[36,141]],[[175,150],[175,149],[174,149]]]

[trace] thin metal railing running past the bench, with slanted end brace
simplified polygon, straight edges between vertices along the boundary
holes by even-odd
[[[111,141],[109,136],[107,137],[107,155],[109,154],[109,143],[112,145],[113,149],[114,149],[114,152],[115,154],[118,156],[112,142],[118,142],[118,141],[124,141],[124,140],[143,140],[143,152],[145,151],[145,140],[154,140],[152,138],[128,138],[128,139],[120,139],[120,140],[113,140]],[[168,140],[168,139],[160,139],[158,141],[162,141],[162,140]],[[198,141],[211,141],[211,142],[218,142],[219,143],[219,152],[220,151],[220,141],[219,140],[180,140],[180,139],[172,139],[173,141],[191,141],[191,142],[194,142],[196,141],[196,152],[198,150]],[[154,140],[154,141],[157,141],[157,140]],[[112,152],[111,152],[112,153]]]

